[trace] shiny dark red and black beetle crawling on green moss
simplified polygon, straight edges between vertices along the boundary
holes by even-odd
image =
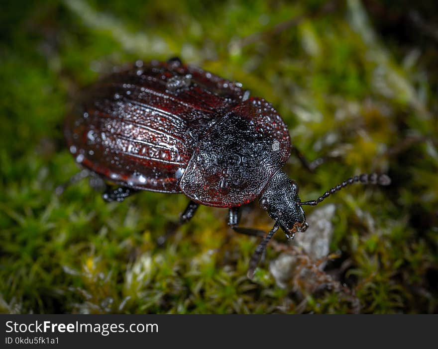
[[[279,228],[288,239],[307,229],[303,205],[317,205],[355,182],[390,184],[386,174],[356,175],[302,202],[297,183],[281,168],[292,152],[310,170],[322,161],[309,163],[291,144],[271,103],[178,58],[116,69],[85,90],[64,133],[77,163],[118,185],[107,184],[106,201],[139,190],[184,193],[190,202],[181,223],[200,204],[224,207],[235,231],[260,235],[238,226],[239,207],[258,197],[275,223],[251,257],[250,278]]]

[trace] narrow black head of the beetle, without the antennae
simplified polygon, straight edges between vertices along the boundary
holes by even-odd
[[[281,171],[271,178],[259,199],[260,207],[278,220],[288,239],[293,239],[296,232],[304,232],[308,227],[299,202],[297,183]]]

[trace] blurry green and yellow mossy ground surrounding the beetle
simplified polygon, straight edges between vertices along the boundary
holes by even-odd
[[[438,312],[438,10],[426,3],[2,1],[0,311]],[[257,240],[209,207],[172,228],[184,195],[107,204],[86,180],[55,195],[78,171],[62,135],[78,90],[175,55],[272,102],[309,158],[332,156],[315,174],[290,159],[303,200],[349,175],[392,177],[329,199],[338,256],[325,271],[310,262],[279,287],[269,262],[296,248],[278,234],[248,280]],[[252,205],[242,225],[272,221]]]

